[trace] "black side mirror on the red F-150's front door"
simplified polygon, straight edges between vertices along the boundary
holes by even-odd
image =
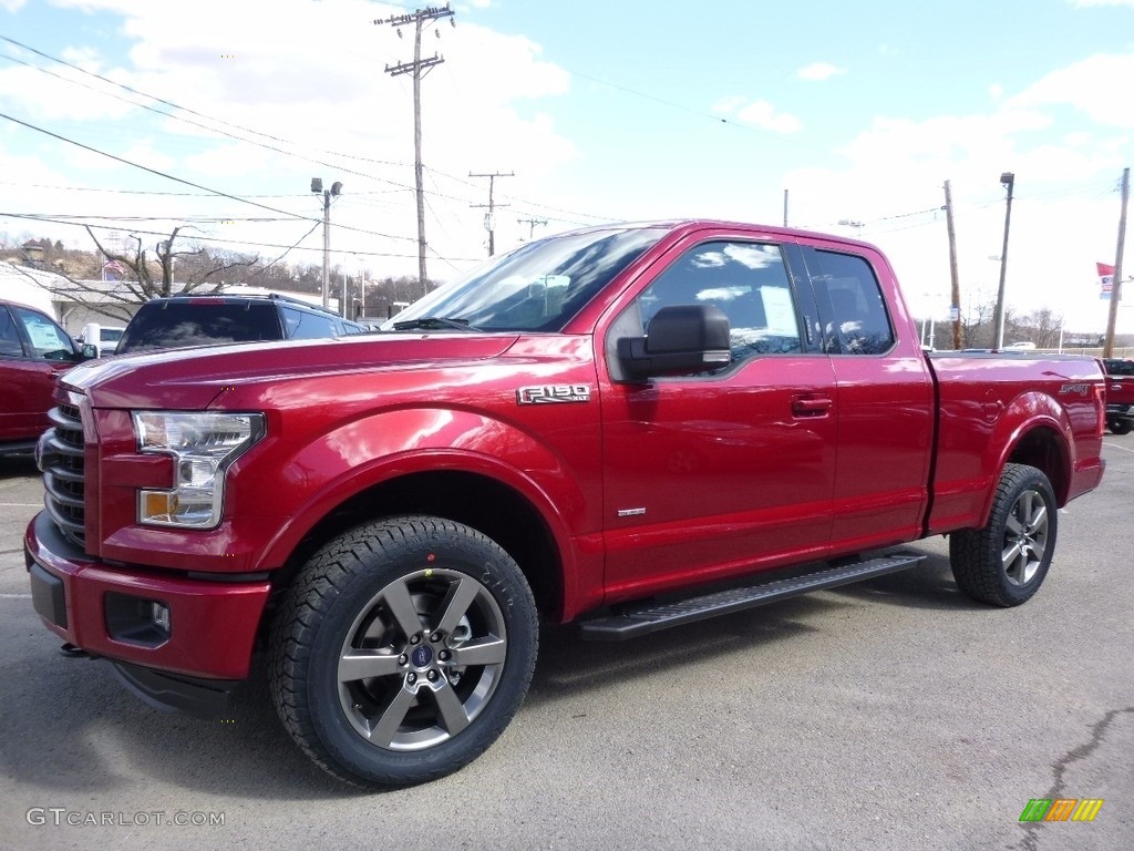
[[[633,378],[703,372],[731,360],[728,317],[711,304],[662,307],[645,337],[618,340],[618,361]]]

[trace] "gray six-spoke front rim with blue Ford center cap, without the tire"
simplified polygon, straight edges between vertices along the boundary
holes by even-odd
[[[508,648],[496,599],[466,573],[425,568],[362,607],[339,654],[339,705],[389,750],[439,744],[491,700]]]

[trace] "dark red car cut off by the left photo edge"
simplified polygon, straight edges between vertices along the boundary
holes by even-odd
[[[0,455],[29,453],[48,428],[56,377],[83,360],[46,313],[0,302]]]

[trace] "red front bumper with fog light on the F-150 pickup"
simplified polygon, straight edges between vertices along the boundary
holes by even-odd
[[[266,576],[230,581],[235,578],[218,574],[211,581],[92,561],[59,533],[46,512],[28,525],[24,556],[33,605],[49,630],[91,656],[162,676],[147,689],[143,686],[154,684],[153,676],[134,671],[127,680],[135,691],[161,693],[169,681],[247,677],[271,590]],[[141,616],[134,614],[151,606],[163,609],[160,629],[139,625]]]

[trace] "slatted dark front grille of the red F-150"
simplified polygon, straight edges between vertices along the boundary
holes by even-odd
[[[59,531],[85,548],[83,421],[74,405],[53,407],[48,418],[52,428],[40,443],[44,505]]]

